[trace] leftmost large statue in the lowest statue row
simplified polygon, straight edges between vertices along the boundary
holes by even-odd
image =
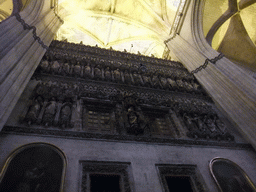
[[[37,121],[39,113],[43,106],[43,99],[42,97],[38,96],[34,103],[30,106],[28,113],[26,115],[25,120],[28,122],[28,125],[31,125]]]

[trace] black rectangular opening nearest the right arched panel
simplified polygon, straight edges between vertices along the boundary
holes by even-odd
[[[170,192],[193,192],[187,176],[165,176],[165,180]]]

